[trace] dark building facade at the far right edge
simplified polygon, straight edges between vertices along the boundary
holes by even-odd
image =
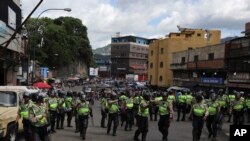
[[[243,33],[245,36],[226,43],[227,86],[250,92],[250,22]]]

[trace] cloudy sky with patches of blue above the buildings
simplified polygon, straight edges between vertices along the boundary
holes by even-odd
[[[21,0],[24,18],[40,0]],[[122,36],[162,38],[185,28],[219,29],[222,38],[243,36],[250,22],[250,0],[43,0],[32,15],[48,8],[71,8],[71,12],[47,11],[41,17],[72,16],[88,28],[93,49]]]

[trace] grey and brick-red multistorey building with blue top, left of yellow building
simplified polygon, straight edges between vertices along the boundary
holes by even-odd
[[[148,45],[150,40],[136,36],[116,36],[111,39],[111,74],[125,78],[127,74],[146,79]]]

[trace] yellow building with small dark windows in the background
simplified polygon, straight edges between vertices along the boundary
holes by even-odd
[[[179,28],[179,31],[150,43],[148,80],[151,86],[168,87],[172,85],[173,74],[170,70],[170,64],[173,52],[215,45],[221,42],[220,30]],[[187,62],[185,58],[183,59],[182,62]]]

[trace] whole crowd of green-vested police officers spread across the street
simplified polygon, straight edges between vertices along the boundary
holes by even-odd
[[[149,120],[158,121],[162,141],[168,140],[168,128],[177,111],[177,122],[191,120],[193,141],[199,141],[204,124],[208,129],[208,138],[216,140],[217,130],[222,129],[225,115],[228,122],[242,125],[250,122],[250,94],[233,91],[210,90],[208,92],[189,90],[152,91],[126,89],[116,92],[102,89],[96,92],[101,104],[101,113],[93,113],[93,94],[86,91],[72,92],[50,90],[46,93],[23,95],[17,122],[22,117],[26,141],[49,141],[49,133],[64,129],[65,115],[67,127],[72,127],[75,118],[75,132],[86,139],[88,120],[93,115],[101,115],[101,127],[107,134],[117,136],[119,123],[125,131],[134,132],[133,139],[145,141],[149,131]],[[245,118],[246,117],[246,118]],[[105,123],[108,118],[108,123]],[[159,118],[159,119],[158,119]],[[244,120],[246,119],[246,121]],[[113,128],[112,128],[113,124]]]

